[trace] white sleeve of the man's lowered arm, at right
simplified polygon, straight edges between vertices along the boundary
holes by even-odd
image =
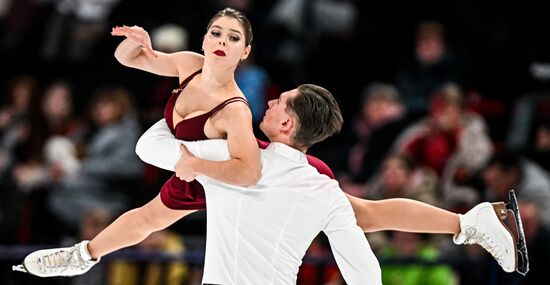
[[[342,190],[336,191],[323,232],[329,239],[338,268],[346,284],[382,284],[380,264],[357,226],[351,204]]]

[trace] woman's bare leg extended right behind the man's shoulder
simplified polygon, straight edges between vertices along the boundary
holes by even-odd
[[[396,230],[457,234],[458,214],[411,199],[365,200],[346,194],[364,232]]]

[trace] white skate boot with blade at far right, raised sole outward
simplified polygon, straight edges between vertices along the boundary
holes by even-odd
[[[510,201],[506,205],[503,202],[485,202],[478,204],[466,214],[459,215],[461,232],[453,237],[453,241],[455,244],[478,244],[491,253],[504,271],[517,270],[525,275],[529,271],[527,246],[514,192],[510,191],[509,196]],[[508,210],[514,212],[520,241],[517,244],[515,237],[504,224]],[[519,265],[518,252],[521,257]]]

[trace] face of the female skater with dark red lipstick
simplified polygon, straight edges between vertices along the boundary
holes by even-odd
[[[241,23],[232,17],[219,17],[204,36],[202,48],[211,64],[236,67],[250,53],[251,47],[245,45]]]

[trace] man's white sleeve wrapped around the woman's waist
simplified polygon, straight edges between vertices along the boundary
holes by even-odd
[[[136,144],[136,154],[148,164],[174,171],[174,166],[181,157],[180,144],[184,144],[189,152],[198,158],[214,161],[231,158],[226,140],[209,139],[194,142],[178,140],[164,119],[143,133]]]

